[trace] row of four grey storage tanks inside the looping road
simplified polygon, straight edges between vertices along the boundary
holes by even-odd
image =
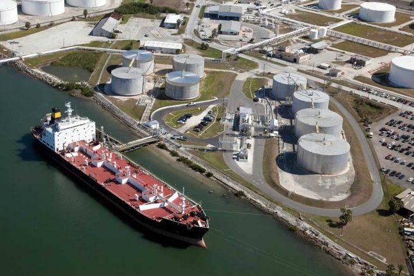
[[[328,110],[329,96],[307,89],[304,76],[292,73],[273,77],[270,97],[292,99],[295,136],[299,139],[296,161],[299,166],[321,175],[336,175],[348,170],[350,146],[342,137],[343,119]]]

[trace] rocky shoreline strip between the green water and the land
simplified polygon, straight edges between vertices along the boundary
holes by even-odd
[[[29,75],[30,77],[34,79],[38,79],[40,81],[48,83],[53,88],[59,89],[59,86],[56,86],[56,80],[54,78],[51,78],[48,75],[43,75],[41,72],[34,71],[26,64],[24,64],[22,61],[17,61],[14,63],[11,63],[10,66],[16,70],[19,70],[26,75]],[[60,80],[61,81],[61,80]],[[63,81],[61,81],[62,83]],[[63,90],[61,90],[63,91]],[[63,91],[65,92],[65,91]],[[72,95],[73,97],[77,97],[76,95]],[[81,97],[82,99],[88,99],[87,97]],[[116,117],[119,121],[122,122],[122,124],[126,124],[126,126],[132,128],[131,130],[135,132],[137,135],[142,136],[148,135],[148,133],[144,132],[141,128],[139,128],[139,122],[135,119],[132,119],[129,115],[127,115],[124,111],[120,110],[117,106],[115,106],[111,101],[106,99],[103,95],[101,95],[99,92],[94,93],[94,97],[92,99],[99,105],[103,110],[107,110],[110,112],[110,114],[114,117]],[[168,150],[171,150],[173,147],[171,144],[166,144],[168,146]],[[152,151],[154,151],[153,148],[151,148]],[[176,150],[176,148],[173,148],[173,150]],[[162,152],[161,149],[155,149],[155,152]],[[336,244],[331,239],[328,239],[325,235],[319,232],[319,230],[313,228],[313,226],[310,226],[305,221],[298,219],[297,217],[294,217],[290,213],[288,213],[286,210],[283,210],[282,207],[278,206],[277,204],[274,204],[271,201],[268,201],[268,199],[262,197],[262,195],[259,195],[248,188],[242,186],[241,184],[238,184],[233,179],[230,179],[224,175],[221,174],[218,170],[215,168],[212,168],[207,164],[204,160],[199,159],[198,157],[195,157],[187,150],[179,150],[179,153],[187,157],[188,159],[194,161],[199,166],[202,166],[203,168],[206,168],[207,170],[210,170],[214,173],[214,176],[210,178],[211,181],[215,181],[220,186],[223,186],[224,188],[228,188],[233,191],[239,191],[242,190],[245,194],[243,196],[243,199],[248,201],[248,203],[252,204],[256,208],[259,208],[260,210],[264,211],[265,213],[268,213],[270,215],[273,215],[278,221],[282,222],[289,230],[292,228],[297,228],[294,232],[299,235],[299,237],[302,237],[306,239],[308,242],[311,242],[315,246],[319,247],[319,249],[322,249],[325,251],[325,253],[331,255],[335,259],[339,260],[344,264],[347,271],[352,272],[354,275],[360,275],[360,273],[363,270],[366,269],[373,269],[376,270],[377,267],[373,264],[365,261],[364,259],[355,256],[350,251],[346,250],[345,248],[342,248],[342,246],[339,246],[339,244]],[[162,155],[162,154],[161,154]],[[172,157],[168,152],[165,152],[164,157],[168,156],[167,158],[170,158],[171,161],[174,163],[176,160],[174,157]],[[177,166],[179,170],[184,171],[188,173],[188,170],[190,168],[186,168],[184,165]],[[192,170],[190,170],[192,171]],[[193,172],[193,171],[192,171]],[[199,174],[199,172],[193,172],[194,174]],[[353,256],[353,257],[351,257]]]

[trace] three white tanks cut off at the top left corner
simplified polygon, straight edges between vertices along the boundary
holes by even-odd
[[[66,0],[70,6],[97,8],[106,5],[106,0]],[[65,0],[21,0],[21,12],[39,17],[52,17],[65,12]],[[0,1],[0,25],[18,21],[17,3],[13,0]]]

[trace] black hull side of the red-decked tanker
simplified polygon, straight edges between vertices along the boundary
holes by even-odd
[[[98,184],[95,179],[92,179],[88,175],[72,166],[72,164],[61,157],[61,155],[53,152],[50,150],[50,148],[47,148],[36,137],[34,137],[34,139],[37,141],[37,145],[41,147],[41,150],[43,152],[46,152],[48,157],[52,158],[55,163],[60,165],[61,168],[64,168],[66,171],[70,172],[74,177],[77,177],[77,179],[80,179],[84,184],[88,185],[88,187],[92,188],[102,197],[110,201],[113,206],[116,206],[122,210],[124,213],[126,213],[126,215],[128,215],[128,217],[130,217],[130,219],[135,221],[137,224],[144,226],[152,233],[164,235],[166,237],[170,237],[172,239],[176,239],[188,244],[195,244],[204,248],[206,247],[203,236],[207,233],[208,228],[198,226],[188,228],[186,224],[182,224],[177,221],[172,221],[169,219],[161,219],[161,221],[157,221],[155,219],[151,219],[145,215],[142,215],[141,213],[137,212],[137,210],[125,204],[124,201],[121,201],[121,199],[119,199],[116,195],[110,193],[109,190],[106,190],[106,188]]]

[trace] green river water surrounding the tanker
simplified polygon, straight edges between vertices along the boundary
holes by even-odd
[[[171,184],[186,186],[211,217],[206,249],[157,242],[46,161],[29,128],[51,106],[72,101],[73,108],[112,135],[124,141],[134,135],[92,101],[10,68],[0,67],[0,82],[1,275],[348,275],[272,217],[199,174],[181,172],[164,152],[145,148],[129,156]]]

